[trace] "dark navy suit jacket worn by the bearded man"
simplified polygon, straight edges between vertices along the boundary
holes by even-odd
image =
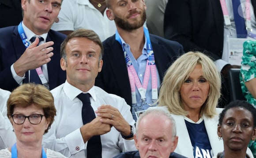
[[[154,51],[155,64],[162,82],[165,71],[177,59],[177,56],[184,53],[184,51],[181,44],[175,41],[166,40],[152,34],[150,34],[150,40]],[[124,98],[126,103],[131,106],[131,85],[123,48],[115,39],[115,35],[106,39],[103,42],[103,47],[102,71],[98,73],[95,85],[108,93]]]

